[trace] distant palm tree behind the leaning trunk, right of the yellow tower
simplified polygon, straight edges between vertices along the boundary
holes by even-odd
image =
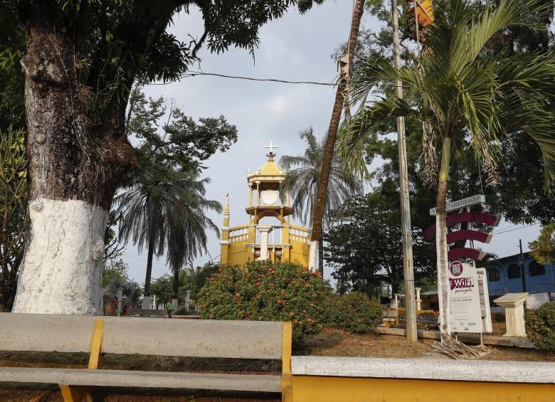
[[[317,140],[314,137],[312,127],[303,129],[299,136],[306,144],[305,153],[297,156],[284,155],[281,157],[280,165],[287,171],[287,174],[285,180],[281,183],[280,191],[291,194],[293,216],[299,218],[303,224],[310,221],[310,226],[313,226],[312,216],[314,216],[314,208],[317,205],[318,183],[322,174],[325,140]],[[332,211],[342,206],[346,199],[361,191],[361,181],[357,180],[354,174],[349,174],[343,169],[339,155],[335,152],[331,169],[329,169],[329,184],[323,208],[324,226],[329,226]],[[318,269],[324,275],[322,233],[318,238],[318,243]]]

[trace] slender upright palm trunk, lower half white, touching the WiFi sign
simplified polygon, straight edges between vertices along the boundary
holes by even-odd
[[[438,267],[438,301],[440,309],[440,334],[443,342],[450,337],[449,327],[449,296],[447,270],[449,269],[447,257],[447,225],[445,218],[445,205],[447,203],[447,185],[449,180],[449,164],[451,153],[451,139],[443,139],[443,151],[441,157],[440,175],[438,180],[438,194],[436,199],[435,213],[435,250],[437,252]]]

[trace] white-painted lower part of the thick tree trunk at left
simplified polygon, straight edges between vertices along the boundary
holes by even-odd
[[[108,213],[84,201],[36,199],[13,312],[102,314]]]

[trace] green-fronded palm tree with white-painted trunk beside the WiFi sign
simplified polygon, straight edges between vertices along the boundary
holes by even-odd
[[[546,184],[555,181],[555,116],[550,109],[555,100],[553,58],[529,54],[509,58],[485,49],[504,28],[535,26],[545,18],[547,8],[541,3],[545,1],[502,0],[495,9],[476,15],[470,4],[451,0],[428,28],[427,49],[419,66],[394,69],[385,60],[371,60],[361,66],[354,83],[358,102],[364,102],[376,85],[391,85],[397,79],[419,102],[409,105],[406,100],[382,98],[361,107],[339,140],[351,169],[364,166],[364,140],[374,120],[406,116],[430,127],[423,134],[423,161],[430,180],[435,181],[440,159],[436,250],[442,341],[449,336],[445,203],[453,149],[470,143],[490,183],[495,184],[500,139],[507,132],[528,134],[543,153]],[[441,151],[435,152],[436,147]]]

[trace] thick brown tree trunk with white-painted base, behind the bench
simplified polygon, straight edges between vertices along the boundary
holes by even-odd
[[[102,254],[112,172],[132,159],[125,137],[90,132],[73,30],[48,1],[27,10],[29,231],[14,312],[102,314]]]

